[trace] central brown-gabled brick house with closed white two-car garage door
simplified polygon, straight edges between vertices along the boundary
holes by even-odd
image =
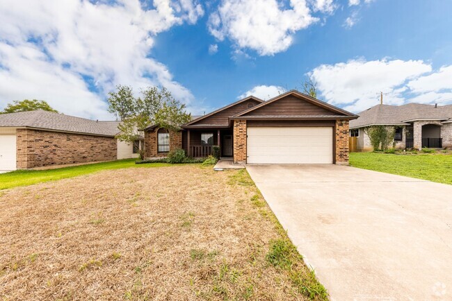
[[[249,96],[181,126],[176,137],[145,129],[145,156],[183,148],[204,157],[220,146],[236,163],[348,164],[348,123],[357,115],[291,90],[268,101]]]

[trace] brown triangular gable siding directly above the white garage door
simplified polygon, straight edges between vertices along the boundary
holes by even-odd
[[[259,115],[330,115],[332,112],[295,96],[286,96],[243,116]],[[337,114],[334,112],[334,114]]]

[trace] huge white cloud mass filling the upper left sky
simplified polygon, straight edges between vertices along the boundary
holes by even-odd
[[[154,37],[203,15],[192,0],[2,0],[0,107],[38,98],[81,117],[107,118],[106,92],[118,84],[164,85],[181,101],[193,95],[167,67],[147,55]],[[26,20],[26,22],[24,22]],[[83,78],[91,78],[88,87]],[[92,90],[95,91],[92,91]]]

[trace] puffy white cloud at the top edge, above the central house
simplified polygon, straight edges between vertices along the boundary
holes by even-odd
[[[319,7],[326,9],[330,1]],[[238,49],[274,55],[293,43],[293,33],[317,22],[305,0],[290,0],[284,8],[277,0],[223,0],[209,17],[209,31],[218,40],[229,38]]]

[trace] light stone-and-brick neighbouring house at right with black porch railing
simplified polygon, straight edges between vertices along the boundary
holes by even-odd
[[[376,105],[350,121],[350,137],[357,137],[357,150],[373,150],[364,128],[395,128],[396,148],[452,148],[452,105]]]

